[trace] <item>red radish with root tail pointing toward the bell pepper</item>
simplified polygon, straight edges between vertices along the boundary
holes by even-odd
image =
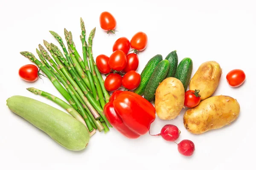
[[[166,141],[174,142],[179,138],[180,130],[175,125],[165,125],[159,134],[151,136],[162,136]]]

